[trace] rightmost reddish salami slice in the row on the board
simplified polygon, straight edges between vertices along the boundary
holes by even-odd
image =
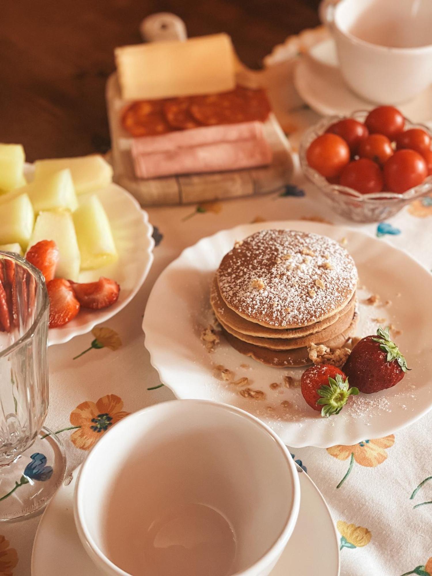
[[[192,116],[198,122],[211,124],[233,124],[266,120],[270,112],[264,90],[251,90],[237,86],[231,92],[195,96],[190,105]]]

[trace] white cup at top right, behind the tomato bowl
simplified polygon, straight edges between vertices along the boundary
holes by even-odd
[[[411,100],[432,82],[431,0],[324,0],[350,88],[379,104]]]

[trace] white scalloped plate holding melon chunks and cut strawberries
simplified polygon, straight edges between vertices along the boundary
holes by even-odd
[[[33,166],[27,164],[25,176],[31,180],[32,175]],[[137,294],[153,262],[153,227],[137,200],[117,184],[109,184],[92,194],[97,195],[108,214],[119,257],[109,266],[80,272],[78,281],[93,282],[100,276],[112,278],[120,285],[119,300],[103,310],[81,309],[69,324],[50,328],[48,346],[63,344],[75,336],[86,334],[96,324],[105,322],[120,312]]]

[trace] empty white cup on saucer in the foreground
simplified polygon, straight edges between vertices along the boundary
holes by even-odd
[[[267,576],[297,520],[293,458],[260,420],[173,400],[121,420],[90,452],[79,537],[112,576]]]

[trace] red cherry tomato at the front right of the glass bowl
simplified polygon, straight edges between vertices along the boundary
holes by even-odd
[[[402,194],[427,176],[426,160],[415,150],[397,150],[384,164],[386,189]]]

